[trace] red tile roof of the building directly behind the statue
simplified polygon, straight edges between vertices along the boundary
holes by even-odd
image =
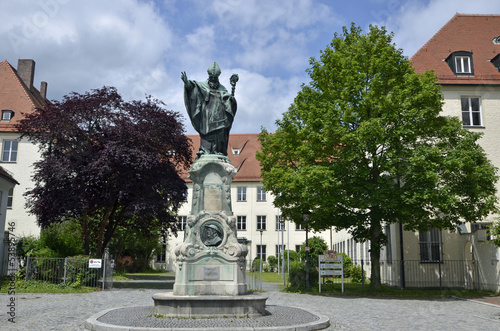
[[[196,158],[196,152],[200,148],[199,135],[187,135],[193,145],[193,160]],[[233,150],[239,150],[238,155],[233,154]],[[229,135],[229,147],[227,156],[231,164],[238,170],[234,177],[234,182],[261,182],[260,162],[255,158],[255,153],[260,150],[260,141],[256,133],[235,133]],[[187,173],[183,178],[187,180]]]

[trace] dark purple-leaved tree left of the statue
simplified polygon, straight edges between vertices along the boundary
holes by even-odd
[[[161,101],[125,102],[113,87],[73,92],[25,115],[18,130],[40,147],[26,195],[42,227],[79,219],[85,251],[92,240],[96,255],[122,225],[175,232],[191,147],[180,115]]]

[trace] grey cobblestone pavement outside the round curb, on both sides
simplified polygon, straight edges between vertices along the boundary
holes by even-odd
[[[500,306],[458,299],[399,300],[281,293],[267,284],[268,305],[305,308],[330,318],[326,330],[500,330]],[[117,289],[86,294],[0,295],[0,330],[85,330],[87,318],[105,309],[152,306],[161,290]]]

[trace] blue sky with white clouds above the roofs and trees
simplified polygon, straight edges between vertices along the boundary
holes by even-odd
[[[35,86],[61,100],[114,86],[125,100],[162,100],[187,119],[181,72],[239,81],[232,133],[273,132],[311,57],[343,26],[384,26],[411,57],[456,13],[500,14],[491,0],[0,0],[0,61],[36,62]]]

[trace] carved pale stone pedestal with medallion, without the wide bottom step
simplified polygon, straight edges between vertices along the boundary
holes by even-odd
[[[238,243],[231,209],[236,169],[225,156],[202,155],[189,170],[193,202],[184,242],[177,246],[174,295],[247,293],[247,247]]]

